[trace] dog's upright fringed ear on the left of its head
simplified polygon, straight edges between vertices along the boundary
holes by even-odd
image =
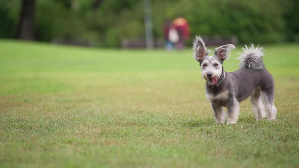
[[[195,40],[193,42],[193,52],[194,58],[200,63],[204,57],[208,56],[210,53],[210,50],[207,50],[205,43],[200,36],[195,36]]]

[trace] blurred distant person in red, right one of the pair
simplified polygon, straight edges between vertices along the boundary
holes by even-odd
[[[176,18],[172,23],[179,35],[179,40],[176,43],[176,48],[181,50],[185,46],[186,39],[190,37],[189,24],[188,21],[183,17]]]

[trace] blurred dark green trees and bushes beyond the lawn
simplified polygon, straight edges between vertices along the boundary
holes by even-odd
[[[165,24],[183,17],[190,30],[186,45],[195,35],[211,39],[211,45],[221,40],[291,42],[299,41],[298,2],[0,0],[0,38],[100,48],[145,48],[146,44],[162,48]]]

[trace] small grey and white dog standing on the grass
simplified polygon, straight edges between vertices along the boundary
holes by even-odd
[[[239,103],[250,96],[256,120],[267,117],[275,120],[277,110],[274,106],[274,79],[263,63],[263,48],[245,46],[238,58],[239,70],[226,72],[222,63],[230,57],[234,45],[215,48],[214,56],[208,56],[205,43],[200,36],[195,38],[193,51],[200,62],[202,77],[206,80],[206,97],[211,102],[217,123],[224,123],[227,107],[227,123],[236,123],[239,118]]]

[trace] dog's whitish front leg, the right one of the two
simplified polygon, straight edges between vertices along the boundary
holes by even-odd
[[[236,123],[239,118],[239,102],[235,97],[230,97],[228,102],[228,124]]]

